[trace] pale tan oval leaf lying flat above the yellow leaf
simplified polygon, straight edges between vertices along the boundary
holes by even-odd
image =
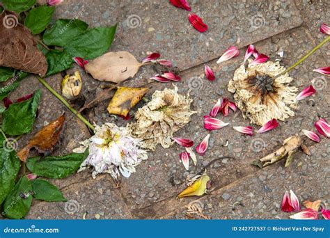
[[[109,52],[85,65],[94,79],[118,83],[134,77],[142,63],[127,51]]]

